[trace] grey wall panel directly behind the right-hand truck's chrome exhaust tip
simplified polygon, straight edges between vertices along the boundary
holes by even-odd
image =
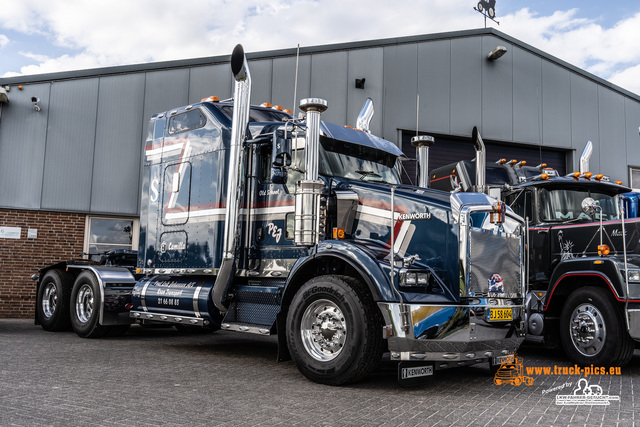
[[[600,145],[598,131],[598,85],[575,74],[571,75],[571,147],[576,150],[569,170],[579,169],[580,153],[587,141]],[[600,169],[597,156],[591,156],[591,169]],[[606,172],[603,172],[606,173]]]

